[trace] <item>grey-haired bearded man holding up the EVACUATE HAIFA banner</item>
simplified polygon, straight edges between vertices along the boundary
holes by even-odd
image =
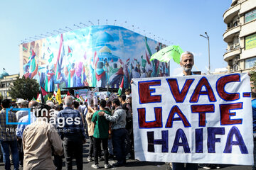
[[[177,76],[190,76],[193,75],[192,67],[194,64],[194,58],[192,52],[183,52],[180,58],[180,65],[183,68],[181,74]],[[198,164],[187,163],[186,166],[184,163],[172,163],[174,170],[197,170]]]

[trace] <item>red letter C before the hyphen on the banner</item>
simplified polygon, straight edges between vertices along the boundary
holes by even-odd
[[[216,90],[220,98],[222,98],[224,101],[235,101],[240,98],[239,93],[228,94],[225,91],[225,85],[235,81],[240,82],[240,74],[231,74],[228,76],[220,77],[220,79],[218,79],[216,83]]]

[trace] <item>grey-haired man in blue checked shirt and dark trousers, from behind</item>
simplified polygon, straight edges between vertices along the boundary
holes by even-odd
[[[65,97],[65,106],[65,109],[58,113],[58,129],[63,140],[66,169],[72,169],[72,159],[75,157],[80,170],[82,169],[82,144],[86,142],[85,129],[80,112],[72,108],[72,96]]]

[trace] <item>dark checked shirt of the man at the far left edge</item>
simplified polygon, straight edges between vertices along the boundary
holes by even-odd
[[[8,122],[17,123],[15,113],[8,111]],[[6,109],[2,109],[0,112],[0,140],[12,141],[17,140],[16,137],[17,125],[6,125]]]

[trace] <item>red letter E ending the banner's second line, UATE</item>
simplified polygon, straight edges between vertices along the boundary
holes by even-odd
[[[242,103],[231,103],[220,105],[220,125],[234,125],[241,124],[242,119],[230,119],[230,116],[234,116],[236,113],[230,113],[230,110],[241,109]]]

